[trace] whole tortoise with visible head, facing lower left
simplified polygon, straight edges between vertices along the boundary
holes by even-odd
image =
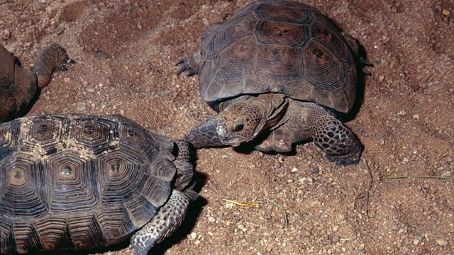
[[[370,65],[357,51],[313,6],[245,6],[206,28],[201,50],[176,63],[177,74],[199,74],[201,98],[218,113],[187,141],[199,148],[254,140],[255,149],[283,153],[311,138],[330,161],[358,163],[362,145],[339,120],[353,108],[357,68]]]

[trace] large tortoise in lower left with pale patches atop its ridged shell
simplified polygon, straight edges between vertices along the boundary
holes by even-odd
[[[184,140],[121,115],[37,115],[0,125],[1,254],[82,250],[179,227],[197,198]]]

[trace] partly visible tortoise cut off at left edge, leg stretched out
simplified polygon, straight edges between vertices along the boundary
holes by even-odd
[[[0,123],[25,113],[36,91],[49,84],[56,69],[67,71],[67,63],[74,60],[63,47],[52,43],[40,51],[32,69],[22,68],[0,45]]]

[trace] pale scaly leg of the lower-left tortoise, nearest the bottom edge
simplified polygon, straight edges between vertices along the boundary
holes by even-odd
[[[188,208],[189,197],[174,189],[155,217],[133,234],[129,249],[134,255],[147,255],[155,244],[170,236],[182,224]]]

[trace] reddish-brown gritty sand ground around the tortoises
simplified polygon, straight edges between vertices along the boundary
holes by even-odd
[[[50,42],[77,61],[54,74],[28,114],[121,113],[169,137],[213,115],[198,77],[177,77],[173,63],[249,1],[143,2],[0,1],[0,42],[23,66]],[[454,254],[454,2],[307,2],[375,64],[346,124],[372,179],[365,162],[336,166],[312,143],[291,155],[201,149],[203,199],[150,254]],[[287,212],[288,227],[264,196]]]

